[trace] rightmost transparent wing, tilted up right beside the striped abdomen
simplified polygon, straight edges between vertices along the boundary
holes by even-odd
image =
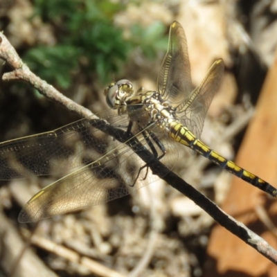
[[[202,133],[204,118],[208,111],[208,107],[210,107],[215,91],[217,91],[220,85],[223,73],[223,60],[216,60],[202,83],[190,93],[186,101],[182,102],[177,107],[178,113],[184,112],[181,121],[198,139],[200,139]]]

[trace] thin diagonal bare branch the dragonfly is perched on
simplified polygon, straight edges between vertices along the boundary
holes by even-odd
[[[31,86],[35,87],[40,93],[42,93],[42,95],[55,102],[59,102],[60,105],[63,105],[66,109],[69,109],[82,117],[92,115],[91,111],[76,104],[69,98],[66,98],[51,85],[34,75],[30,69],[28,69],[28,66],[23,64],[15,49],[10,45],[8,39],[6,39],[2,33],[0,33],[0,58],[5,60],[12,67],[10,73],[5,73],[3,75],[3,80],[21,80],[28,82]],[[109,123],[106,123],[105,120],[101,120],[101,122],[102,124],[100,124],[100,126],[102,126],[102,132],[113,136],[114,139],[117,139],[118,141],[122,141],[122,138],[126,135],[123,130],[116,129],[109,125]],[[161,179],[170,184],[170,186],[192,199],[195,204],[203,208],[206,213],[211,215],[211,217],[224,226],[224,228],[238,236],[238,238],[249,244],[277,265],[277,251],[274,250],[265,240],[249,230],[244,224],[237,222],[233,217],[224,213],[224,211],[211,202],[210,199],[206,198],[202,193],[199,193],[199,191],[193,188],[193,186],[190,186],[190,184],[187,184],[186,181],[166,168],[166,166],[156,159],[152,153],[148,152],[139,141],[136,141],[136,138],[127,141],[127,144],[134,150],[134,152],[136,152],[136,154],[139,155],[139,157],[141,157],[141,159],[143,159],[143,161],[145,161],[145,163],[149,165],[155,175],[158,175]]]

